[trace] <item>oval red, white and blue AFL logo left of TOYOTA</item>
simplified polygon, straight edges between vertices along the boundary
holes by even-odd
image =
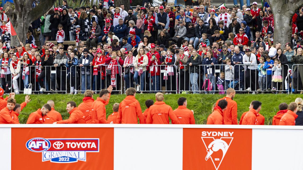
[[[51,146],[51,142],[44,138],[32,138],[26,142],[26,148],[32,152],[47,151]]]

